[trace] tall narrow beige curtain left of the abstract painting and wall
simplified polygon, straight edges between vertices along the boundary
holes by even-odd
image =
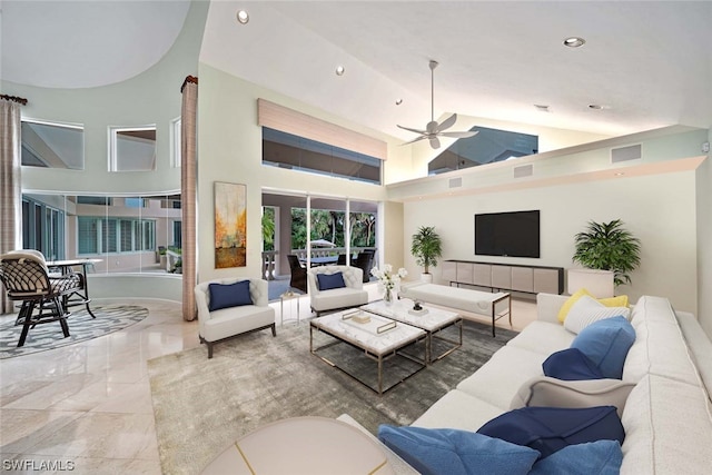
[[[196,298],[196,201],[197,201],[197,112],[198,78],[188,76],[180,89],[182,92],[181,145],[180,145],[180,206],[181,224],[181,260],[182,260],[182,318],[195,320],[197,316]]]

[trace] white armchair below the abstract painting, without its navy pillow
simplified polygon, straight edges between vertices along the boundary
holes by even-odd
[[[229,285],[240,280],[249,280],[249,296],[253,305],[210,311],[210,293],[208,291],[210,284]],[[271,328],[271,335],[277,336],[275,309],[268,305],[267,280],[259,278],[208,280],[195,287],[195,296],[200,343],[208,345],[208,359],[212,358],[212,345],[234,336],[266,328]]]

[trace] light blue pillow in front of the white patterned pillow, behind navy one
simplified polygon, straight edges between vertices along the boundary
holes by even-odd
[[[627,350],[635,343],[635,329],[625,317],[605,318],[589,325],[574,338],[577,348],[593,362],[603,377],[621,379]]]

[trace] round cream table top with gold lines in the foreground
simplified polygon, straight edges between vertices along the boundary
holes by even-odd
[[[328,417],[294,417],[247,434],[202,474],[393,474],[382,448],[356,427]]]

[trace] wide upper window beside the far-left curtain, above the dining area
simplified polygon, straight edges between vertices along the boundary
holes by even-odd
[[[20,129],[23,166],[83,170],[82,126],[24,119]]]

